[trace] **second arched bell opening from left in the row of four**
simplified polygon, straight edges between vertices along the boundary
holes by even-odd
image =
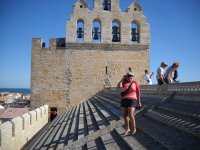
[[[92,42],[101,42],[101,23],[98,20],[92,23]]]

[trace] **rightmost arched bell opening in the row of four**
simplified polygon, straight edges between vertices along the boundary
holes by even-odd
[[[131,43],[140,43],[139,26],[135,22],[131,23]]]

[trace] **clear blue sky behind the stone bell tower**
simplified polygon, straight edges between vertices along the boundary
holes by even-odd
[[[86,0],[93,7],[92,0]],[[122,11],[134,0],[121,0]],[[29,88],[31,40],[65,37],[76,0],[0,0],[0,88]],[[200,0],[138,0],[150,24],[150,70],[179,61],[181,82],[200,81]],[[156,83],[155,76],[153,82]]]

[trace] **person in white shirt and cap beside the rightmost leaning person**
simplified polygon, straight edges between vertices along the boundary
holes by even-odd
[[[157,69],[156,79],[157,79],[158,85],[166,84],[164,81],[165,67],[167,67],[167,63],[162,62],[160,67]]]

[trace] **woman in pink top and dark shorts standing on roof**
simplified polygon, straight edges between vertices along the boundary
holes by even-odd
[[[128,72],[126,75],[118,83],[118,88],[123,89],[123,93],[121,99],[121,107],[122,113],[124,118],[124,123],[126,127],[126,132],[124,135],[128,134],[135,134],[136,133],[136,123],[135,123],[135,108],[137,105],[142,107],[141,100],[140,100],[140,86],[139,84],[133,79],[134,74],[132,72]],[[130,130],[129,120],[132,124],[132,129]]]

